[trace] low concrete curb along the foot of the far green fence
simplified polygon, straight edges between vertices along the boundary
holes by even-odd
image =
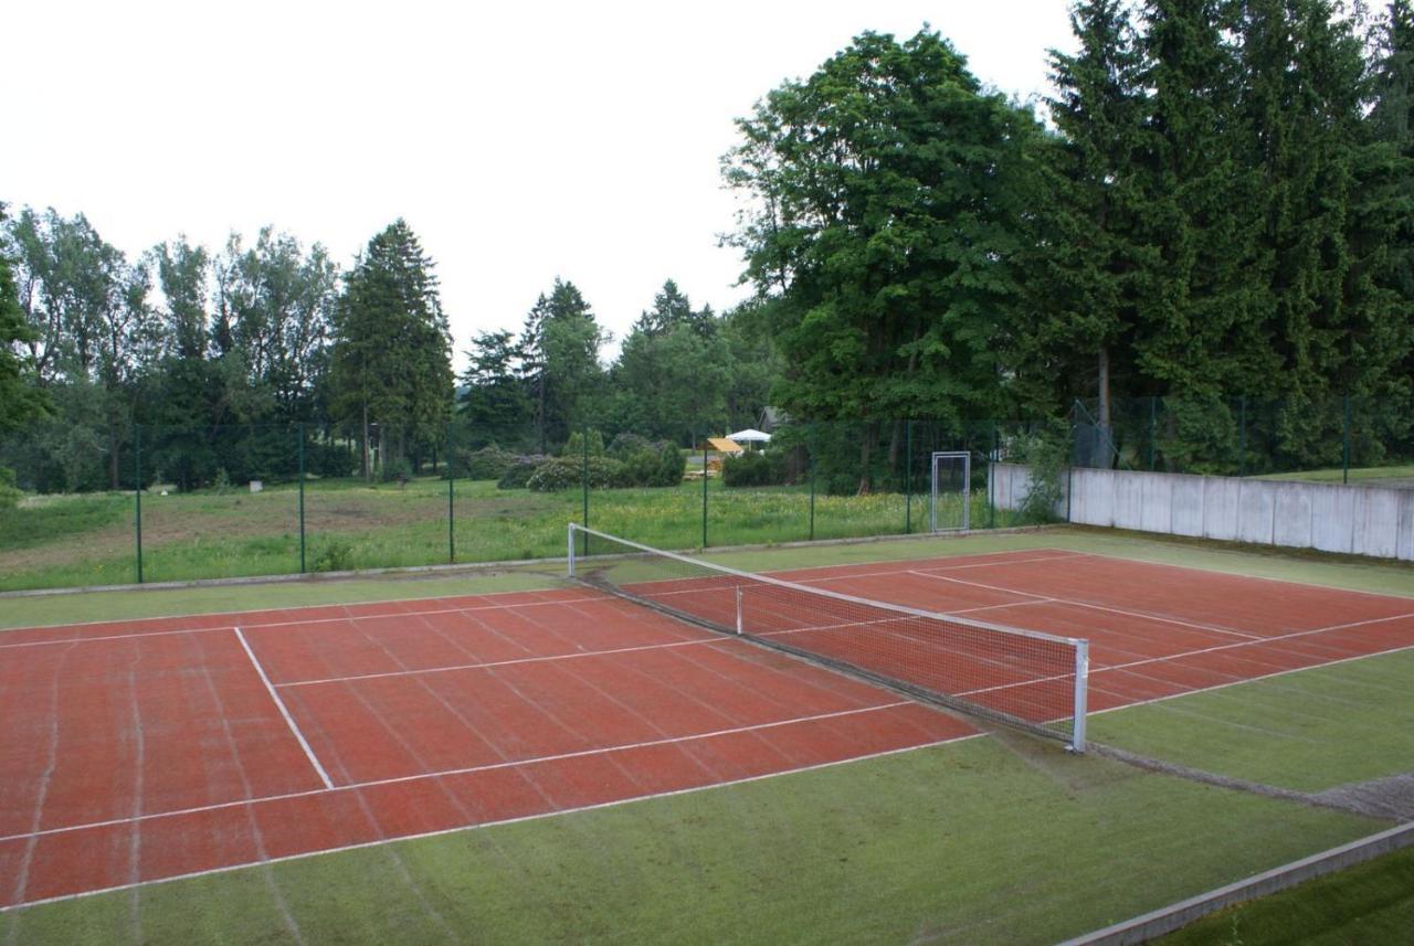
[[[765,549],[782,549],[782,548],[813,548],[816,545],[867,545],[870,542],[894,542],[901,539],[908,541],[925,541],[925,539],[953,539],[953,538],[967,538],[970,535],[1015,535],[1019,532],[1039,532],[1052,528],[1051,525],[1014,525],[1011,528],[1003,529],[971,529],[969,532],[909,532],[898,535],[865,535],[861,538],[844,538],[844,539],[802,539],[797,542],[762,542],[756,545],[713,545],[707,549],[669,549],[669,551],[689,551],[693,553],[707,553],[715,555],[718,552],[758,552]],[[458,562],[455,565],[402,565],[395,568],[369,568],[352,572],[304,572],[293,575],[249,575],[242,577],[199,577],[185,582],[143,582],[141,585],[83,585],[78,587],[38,587],[25,589],[20,592],[0,592],[0,601],[8,597],[48,597],[55,594],[88,594],[92,592],[146,592],[146,590],[173,590],[184,587],[225,587],[225,586],[242,586],[242,585],[286,585],[290,582],[341,582],[341,580],[356,580],[362,577],[376,577],[385,575],[407,575],[407,576],[436,576],[436,575],[455,575],[457,572],[499,572],[505,569],[527,568],[537,565],[560,565],[564,562],[563,556],[556,558],[527,558],[527,559],[512,559],[506,562]]]

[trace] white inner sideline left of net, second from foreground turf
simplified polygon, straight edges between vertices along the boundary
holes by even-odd
[[[462,768],[447,768],[438,770],[436,772],[416,772],[413,775],[393,775],[389,778],[375,778],[366,782],[351,782],[348,785],[329,785],[328,789],[314,788],[303,792],[284,792],[281,795],[262,795],[259,798],[243,798],[232,802],[216,802],[214,805],[197,805],[194,808],[180,808],[170,812],[153,812],[150,815],[133,815],[130,818],[113,818],[103,822],[89,822],[83,825],[65,825],[62,827],[48,827],[42,832],[30,832],[25,834],[7,834],[0,837],[0,842],[25,840],[30,837],[42,837],[45,834],[68,834],[72,832],[82,832],[95,827],[115,827],[119,825],[134,825],[140,822],[151,822],[163,818],[178,818],[181,815],[201,815],[204,812],[218,812],[228,808],[240,808],[243,805],[260,805],[266,802],[283,802],[293,798],[308,798],[311,795],[324,795],[327,792],[351,792],[361,788],[379,788],[383,785],[399,785],[402,782],[419,782],[428,778],[445,778],[448,775],[471,775],[474,772],[489,772],[499,768],[515,768],[518,765],[542,765],[544,762],[560,762],[568,758],[583,758],[587,755],[607,755],[609,753],[625,753],[635,748],[652,748],[655,746],[672,746],[680,743],[694,743],[704,738],[715,738],[718,736],[737,736],[741,733],[756,733],[768,729],[779,729],[782,726],[795,726],[796,723],[816,723],[827,719],[839,719],[843,716],[860,716],[863,713],[877,713],[878,710],[896,709],[899,706],[916,706],[916,700],[895,700],[892,703],[878,703],[875,706],[858,706],[848,710],[836,710],[833,713],[816,713],[814,716],[795,716],[783,720],[772,720],[769,723],[754,723],[751,726],[738,726],[734,729],[720,729],[710,733],[690,733],[687,736],[670,736],[665,738],[648,740],[643,743],[625,743],[619,746],[601,746],[597,748],[584,748],[573,753],[559,753],[554,755],[536,755],[532,758],[522,760],[506,760],[502,762],[486,762],[484,765],[467,765]]]

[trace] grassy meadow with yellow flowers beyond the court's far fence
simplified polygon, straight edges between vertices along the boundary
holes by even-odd
[[[928,497],[824,496],[809,487],[727,489],[707,483],[707,544],[745,545],[894,535],[928,528]],[[662,548],[703,545],[703,486],[592,490],[590,525]],[[974,527],[1011,524],[973,496]],[[813,529],[812,529],[813,505]],[[137,580],[132,493],[27,497],[0,514],[0,590]],[[584,521],[584,494],[501,490],[492,481],[427,477],[396,483],[314,480],[304,490],[304,568],[335,572],[564,553],[564,528]],[[177,493],[141,500],[143,580],[170,582],[301,570],[296,484]]]

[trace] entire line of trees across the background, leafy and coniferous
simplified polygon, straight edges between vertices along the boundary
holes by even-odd
[[[1369,442],[1407,439],[1410,0],[1082,0],[1072,28],[1035,104],[928,27],[861,34],[737,123],[745,304],[717,313],[667,281],[605,363],[612,339],[556,280],[519,329],[469,340],[460,393],[434,263],[402,220],[345,273],[273,230],[130,261],[82,216],[25,208],[4,224],[0,384],[28,400],[0,419],[47,402],[47,462],[102,452],[107,486],[134,422],[321,419],[406,470],[448,422],[472,448],[551,453],[587,426],[686,445],[772,404],[857,424],[840,450],[864,491],[898,467],[904,418],[1076,401],[1113,439],[1117,404],[1165,398],[1192,452],[1232,439],[1247,398],[1275,404],[1274,449],[1301,460],[1329,460],[1340,398],[1362,398]]]

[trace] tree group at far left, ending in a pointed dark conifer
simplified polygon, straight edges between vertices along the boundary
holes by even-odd
[[[238,462],[222,453],[222,431],[378,424],[400,465],[448,414],[451,336],[434,263],[403,220],[348,271],[321,244],[270,227],[215,253],[178,237],[129,260],[82,213],[24,208],[4,237],[18,325],[6,350],[31,398],[6,459],[31,487],[130,486],[120,457],[137,448],[134,425],[184,432],[161,459],[188,489]],[[262,453],[259,436],[240,449]],[[263,452],[242,473],[297,463],[294,449]]]

